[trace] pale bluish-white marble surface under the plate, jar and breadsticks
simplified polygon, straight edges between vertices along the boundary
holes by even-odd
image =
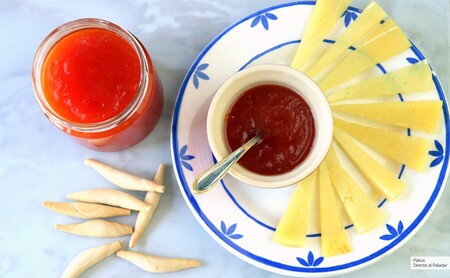
[[[55,231],[77,219],[41,206],[70,192],[112,187],[83,164],[97,158],[152,178],[165,163],[166,193],[137,251],[198,258],[203,266],[164,277],[278,277],[236,258],[201,228],[179,191],[170,157],[172,109],[189,66],[219,32],[261,8],[286,1],[98,0],[0,2],[0,277],[58,277],[82,250],[112,241]],[[355,0],[363,8],[368,0]],[[379,0],[433,65],[449,96],[449,1]],[[58,25],[81,17],[115,22],[134,33],[153,57],[165,89],[162,119],[142,143],[114,153],[79,146],[39,110],[31,62],[42,39]],[[349,277],[448,277],[450,271],[410,270],[411,256],[450,256],[447,187],[423,228],[400,250]],[[133,224],[135,215],[121,217]],[[128,237],[120,238],[127,245]],[[84,277],[156,277],[115,257]]]

